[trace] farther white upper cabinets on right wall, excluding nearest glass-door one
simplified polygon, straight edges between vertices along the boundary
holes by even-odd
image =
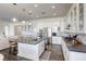
[[[66,14],[65,31],[77,31],[77,4],[73,4]]]

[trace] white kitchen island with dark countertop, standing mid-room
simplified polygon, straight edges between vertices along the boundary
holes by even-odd
[[[45,40],[47,38],[41,38],[28,42],[17,42],[17,55],[28,59],[38,61],[39,56],[45,51]]]

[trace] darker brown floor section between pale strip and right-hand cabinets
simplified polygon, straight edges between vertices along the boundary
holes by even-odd
[[[52,46],[49,61],[63,61],[63,53],[61,46]]]

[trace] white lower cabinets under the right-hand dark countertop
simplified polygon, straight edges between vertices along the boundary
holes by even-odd
[[[86,53],[70,51],[64,40],[62,40],[62,50],[65,61],[86,61]]]

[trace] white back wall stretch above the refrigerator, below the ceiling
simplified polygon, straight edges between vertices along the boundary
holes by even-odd
[[[61,26],[61,29],[64,29],[63,17],[42,18],[42,20],[36,20],[32,22],[33,22],[33,30],[36,33],[38,31],[38,29],[41,29],[44,27]]]

